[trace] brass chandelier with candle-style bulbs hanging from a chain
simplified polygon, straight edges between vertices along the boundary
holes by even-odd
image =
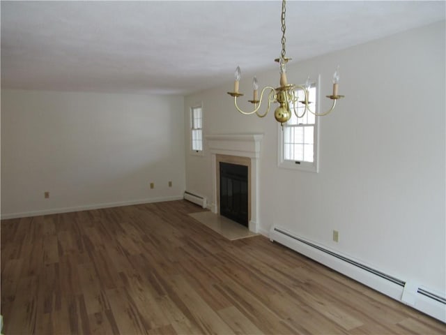
[[[280,87],[274,88],[271,86],[266,86],[262,89],[260,98],[259,98],[259,83],[257,82],[257,78],[254,76],[254,80],[252,82],[252,88],[254,89],[254,96],[252,100],[249,100],[249,103],[252,103],[254,105],[254,109],[251,112],[244,112],[240,109],[237,105],[237,98],[239,96],[243,96],[238,91],[238,83],[240,81],[240,67],[237,66],[236,68],[236,80],[234,82],[234,91],[233,92],[227,92],[230,96],[233,96],[234,98],[234,105],[236,106],[236,109],[238,112],[245,114],[245,115],[251,115],[256,114],[258,117],[266,117],[266,114],[270,111],[270,105],[271,103],[279,103],[279,107],[276,108],[274,112],[274,117],[277,120],[277,122],[280,122],[280,124],[283,126],[286,121],[291,119],[291,109],[293,109],[293,112],[296,117],[301,118],[305,115],[306,112],[310,112],[317,117],[322,117],[324,115],[327,115],[332,110],[334,110],[334,106],[336,105],[336,101],[340,98],[344,98],[344,96],[338,95],[338,84],[339,84],[339,66],[337,67],[336,71],[333,75],[333,92],[331,96],[327,96],[327,98],[330,98],[332,100],[332,106],[329,110],[322,113],[316,113],[312,111],[309,107],[310,101],[308,101],[309,96],[309,89],[311,87],[311,82],[309,77],[307,78],[307,82],[305,82],[305,85],[296,85],[296,84],[288,84],[286,80],[286,63],[291,61],[291,58],[286,57],[286,50],[285,50],[285,13],[286,13],[286,0],[282,0],[282,16],[281,16],[281,23],[282,23],[282,52],[280,54],[280,58],[275,59],[279,63],[279,69],[280,69]],[[266,112],[263,114],[259,113],[261,102],[263,101],[263,94],[269,89],[268,93],[268,107],[266,108]],[[304,92],[305,98],[303,101],[298,101],[298,94],[296,93],[296,89],[300,89]],[[298,104],[302,103],[305,105],[305,108],[303,109],[302,114],[298,114]]]

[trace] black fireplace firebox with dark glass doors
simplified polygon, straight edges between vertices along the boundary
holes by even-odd
[[[248,167],[220,162],[220,215],[248,227]]]

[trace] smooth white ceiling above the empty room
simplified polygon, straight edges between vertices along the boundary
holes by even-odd
[[[280,1],[1,1],[3,88],[188,94],[270,70]],[[287,1],[294,61],[445,20],[445,1]]]

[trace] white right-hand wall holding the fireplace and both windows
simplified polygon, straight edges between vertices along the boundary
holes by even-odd
[[[232,82],[187,96],[185,115],[203,101],[205,134],[264,134],[263,233],[280,225],[445,295],[445,22],[290,65],[288,80],[302,84],[320,73],[327,107],[338,64],[346,98],[321,119],[318,174],[277,167],[272,112],[265,119],[240,115],[226,94]],[[257,77],[260,86],[279,85],[277,70]],[[240,82],[245,100],[251,81]],[[206,148],[203,157],[186,156],[186,188],[213,199],[210,158]]]

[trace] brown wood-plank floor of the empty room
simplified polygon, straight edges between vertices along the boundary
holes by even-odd
[[[229,241],[185,201],[1,221],[3,334],[446,334],[266,237]]]

